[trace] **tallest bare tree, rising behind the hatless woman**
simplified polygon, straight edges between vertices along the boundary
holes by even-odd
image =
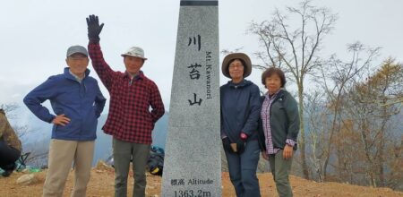
[[[297,20],[295,24],[292,20]],[[286,13],[278,9],[271,21],[253,22],[249,32],[259,37],[264,51],[257,52],[264,67],[280,67],[291,75],[298,87],[300,140],[298,141],[302,168],[305,178],[309,178],[305,156],[304,132],[304,80],[322,66],[319,52],[322,39],[333,30],[337,15],[326,7],[316,7],[305,0],[297,7],[287,7]],[[294,28],[293,28],[294,27]]]

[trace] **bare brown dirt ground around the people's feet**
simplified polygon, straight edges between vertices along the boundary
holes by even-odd
[[[35,173],[37,177],[36,184],[18,185],[16,180],[24,173],[13,173],[9,177],[0,177],[1,197],[30,197],[41,196],[42,186],[45,182],[46,170]],[[133,177],[132,174],[130,177]],[[278,196],[275,192],[276,186],[272,180],[270,173],[258,174],[261,184],[262,196],[274,197]],[[371,188],[364,186],[356,186],[351,184],[338,184],[338,183],[316,183],[308,181],[300,177],[290,176],[291,185],[293,187],[294,196],[310,196],[310,197],[324,197],[324,196],[403,196],[403,193],[392,191],[389,188]],[[160,196],[160,176],[147,176],[147,196],[157,197]],[[222,174],[222,194],[223,196],[236,196],[234,188],[229,180],[227,173]],[[70,196],[73,188],[73,173],[71,172],[67,184],[64,188],[64,196]],[[128,196],[132,196],[133,191],[133,178],[129,180]],[[114,196],[114,170],[113,168],[99,165],[91,171],[90,184],[88,186],[87,196],[101,197],[101,196]]]

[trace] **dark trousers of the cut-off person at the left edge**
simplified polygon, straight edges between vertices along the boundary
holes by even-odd
[[[0,168],[4,171],[13,170],[14,162],[20,158],[20,150],[8,146],[5,141],[0,140]]]

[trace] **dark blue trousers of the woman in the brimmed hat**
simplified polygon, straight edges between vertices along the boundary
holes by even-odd
[[[225,149],[224,149],[225,150]],[[260,197],[259,180],[256,169],[259,162],[258,141],[246,142],[242,154],[225,150],[228,162],[229,177],[236,190],[237,197]]]

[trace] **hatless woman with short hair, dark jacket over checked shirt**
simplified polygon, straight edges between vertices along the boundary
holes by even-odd
[[[286,77],[279,68],[262,73],[262,84],[268,90],[262,96],[259,131],[262,157],[270,162],[279,196],[293,196],[288,176],[299,132],[298,106],[296,99],[283,89]]]

